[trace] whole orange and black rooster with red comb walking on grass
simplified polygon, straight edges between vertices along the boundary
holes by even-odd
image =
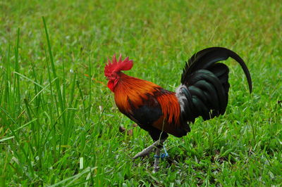
[[[168,91],[161,86],[125,75],[121,71],[130,70],[133,60],[121,56],[112,62],[108,60],[104,75],[109,80],[107,86],[114,92],[118,110],[148,131],[154,143],[135,157],[143,157],[156,148],[154,172],[159,169],[159,155],[162,144],[171,134],[185,136],[189,123],[197,117],[209,120],[226,111],[228,103],[229,69],[221,60],[229,57],[236,60],[247,77],[250,93],[252,79],[244,61],[237,53],[222,47],[207,48],[195,53],[183,68],[180,86],[176,91]]]

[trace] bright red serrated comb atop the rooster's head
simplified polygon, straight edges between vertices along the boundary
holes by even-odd
[[[129,58],[125,58],[124,60],[121,60],[121,55],[118,58],[118,61],[116,60],[116,55],[113,56],[113,60],[109,60],[108,63],[105,66],[104,74],[106,77],[111,76],[113,72],[120,72],[122,70],[127,71],[130,70],[133,67],[133,60],[129,60]]]

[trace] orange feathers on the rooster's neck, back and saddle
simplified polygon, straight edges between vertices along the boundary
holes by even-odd
[[[139,108],[149,96],[154,96],[164,115],[164,119],[169,123],[179,124],[180,106],[175,93],[166,91],[161,86],[125,75],[123,72],[118,73],[119,79],[115,86],[115,101],[121,112],[132,112],[133,108]],[[149,103],[154,107],[156,103]]]

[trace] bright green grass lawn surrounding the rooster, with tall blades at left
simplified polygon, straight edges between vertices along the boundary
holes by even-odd
[[[279,1],[0,5],[0,186],[281,185]],[[228,60],[226,114],[170,136],[170,157],[152,174],[152,156],[130,159],[152,140],[139,127],[119,133],[133,122],[105,86],[104,62],[123,53],[135,61],[128,75],[173,91],[185,60],[209,46],[240,54],[253,93]]]

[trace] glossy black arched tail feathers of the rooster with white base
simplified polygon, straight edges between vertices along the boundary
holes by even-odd
[[[223,63],[229,57],[235,59],[243,68],[250,92],[252,79],[244,61],[235,52],[212,47],[195,53],[186,63],[181,77],[181,85],[176,89],[182,118],[194,122],[202,116],[209,120],[222,115],[228,103],[228,67]]]

